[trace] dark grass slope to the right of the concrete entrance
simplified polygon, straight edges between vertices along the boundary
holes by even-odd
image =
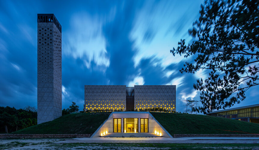
[[[259,124],[221,117],[180,113],[153,113],[171,134],[259,134]],[[228,131],[224,131],[228,130]],[[240,131],[240,132],[231,132]],[[246,132],[246,133],[243,133]]]

